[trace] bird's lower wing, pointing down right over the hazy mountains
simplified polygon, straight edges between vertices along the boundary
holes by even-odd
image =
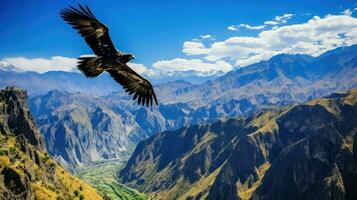
[[[151,83],[137,74],[129,66],[125,65],[120,68],[110,68],[106,70],[110,76],[123,86],[125,92],[129,95],[134,94],[133,100],[138,98],[138,104],[149,106],[153,103],[153,99],[157,103],[157,98]]]

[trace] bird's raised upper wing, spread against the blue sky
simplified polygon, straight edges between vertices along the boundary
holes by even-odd
[[[66,8],[61,11],[61,17],[78,30],[96,55],[103,56],[117,53],[110,39],[108,28],[95,18],[88,6],[84,8],[79,5],[79,9],[69,7],[69,9]]]

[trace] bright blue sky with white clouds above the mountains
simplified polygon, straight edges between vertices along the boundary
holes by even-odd
[[[304,24],[314,16],[322,19],[316,19],[318,21],[316,23],[320,21],[330,23],[327,22],[328,20],[323,21],[326,15],[344,15],[349,18],[341,19],[346,23],[352,20],[353,24],[356,14],[353,10],[357,7],[356,1],[347,0],[250,0],[245,2],[2,0],[0,2],[0,60],[11,63],[13,61],[11,59],[14,58],[25,59],[19,62],[21,66],[25,61],[31,62],[31,59],[35,58],[46,61],[56,56],[76,58],[83,54],[91,54],[84,40],[64,23],[58,14],[62,8],[77,3],[90,6],[97,18],[109,27],[116,47],[135,55],[135,63],[138,64],[136,67],[171,71],[196,69],[202,71],[201,69],[212,68],[210,71],[203,70],[205,73],[219,71],[217,66],[222,68],[222,71],[228,71],[251,64],[251,62],[267,59],[281,52],[308,54],[314,54],[312,51],[323,52],[321,48],[328,49],[331,45],[326,44],[321,48],[311,47],[310,51],[293,51],[291,49],[301,49],[303,45],[309,46],[309,44],[276,44],[274,48],[280,48],[279,51],[272,52],[269,49],[269,51],[258,52],[256,49],[262,45],[262,42],[254,41],[263,31]],[[341,13],[347,9],[350,9],[350,13]],[[332,19],[330,21],[333,23]],[[345,34],[353,32],[354,27],[349,26],[347,29],[337,27],[336,29],[339,28],[342,32],[338,34]],[[246,40],[254,41],[247,44]],[[231,41],[236,42],[236,45],[257,46],[256,49],[246,48],[235,51],[236,46],[229,46]],[[354,38],[350,38],[345,43],[336,41],[336,44],[332,46],[351,43],[354,43]],[[283,48],[279,45],[287,46]],[[58,62],[62,61],[59,59]],[[41,64],[41,62],[37,63]],[[46,62],[43,63],[48,65]],[[56,68],[56,65],[61,64],[53,64],[53,69],[61,70],[61,67]],[[73,65],[73,62],[65,60],[63,65],[66,64]],[[182,69],[179,65],[183,66]],[[174,67],[171,69],[171,66]],[[36,71],[36,69],[33,70]]]

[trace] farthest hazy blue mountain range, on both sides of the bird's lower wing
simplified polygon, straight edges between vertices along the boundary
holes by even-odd
[[[157,72],[153,75],[144,74],[154,84],[162,84],[168,81],[186,80],[194,84],[200,84],[207,80],[214,80],[223,73],[202,76],[195,72]],[[0,88],[14,85],[24,88],[30,95],[45,94],[51,90],[71,93],[85,93],[89,95],[109,95],[121,91],[118,85],[107,73],[93,79],[86,78],[79,72],[49,71],[37,73],[24,71],[20,68],[0,62]]]

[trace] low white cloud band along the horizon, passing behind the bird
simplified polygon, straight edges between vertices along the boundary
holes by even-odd
[[[92,56],[92,55],[83,55]],[[44,73],[48,71],[67,71],[73,72],[77,70],[77,59],[62,56],[54,56],[52,58],[24,58],[13,57],[0,60],[0,69],[16,70],[16,71],[35,71]],[[173,60],[162,60],[153,64],[154,68],[146,67],[139,63],[128,63],[138,74],[144,76],[167,75],[168,72],[196,72],[198,75],[206,76],[216,74],[218,72],[227,72],[233,69],[232,65],[222,60],[213,63],[203,62],[199,59],[183,59],[176,58]]]

